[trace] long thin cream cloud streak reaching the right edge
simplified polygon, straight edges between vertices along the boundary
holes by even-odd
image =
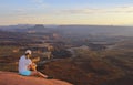
[[[133,13],[133,7],[64,9],[60,10],[59,13],[65,14]]]

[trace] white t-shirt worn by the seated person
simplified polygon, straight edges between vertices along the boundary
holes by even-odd
[[[25,55],[22,55],[19,60],[19,73],[27,71],[28,66],[31,64],[31,60],[30,59],[25,59]]]

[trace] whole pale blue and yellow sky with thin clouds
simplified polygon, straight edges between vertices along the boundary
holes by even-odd
[[[133,25],[133,0],[0,0],[0,25]]]

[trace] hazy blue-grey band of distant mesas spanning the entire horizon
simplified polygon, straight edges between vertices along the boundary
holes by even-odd
[[[80,35],[124,35],[133,36],[133,26],[113,26],[113,25],[43,25],[43,24],[23,24],[0,26],[4,31],[13,32],[58,32],[62,34],[80,34]]]

